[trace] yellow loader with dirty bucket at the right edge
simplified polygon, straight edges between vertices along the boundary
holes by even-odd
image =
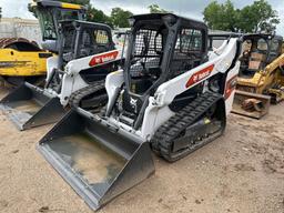
[[[275,34],[245,34],[233,113],[261,119],[284,100],[284,44]]]

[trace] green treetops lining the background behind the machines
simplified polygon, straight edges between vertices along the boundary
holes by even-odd
[[[133,13],[121,8],[113,8],[110,16],[93,8],[90,0],[65,0],[75,3],[87,4],[88,20],[104,22],[113,28],[128,28],[128,18]],[[153,3],[148,7],[151,13],[169,12]],[[203,11],[204,21],[210,29],[224,30],[232,32],[274,32],[280,23],[276,10],[266,0],[255,0],[252,4],[244,8],[235,8],[231,0],[224,3],[212,1]]]

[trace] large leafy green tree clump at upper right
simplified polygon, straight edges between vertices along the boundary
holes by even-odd
[[[204,21],[211,29],[242,32],[272,32],[280,23],[277,12],[266,0],[254,1],[243,9],[235,9],[232,1],[211,2],[203,11]]]

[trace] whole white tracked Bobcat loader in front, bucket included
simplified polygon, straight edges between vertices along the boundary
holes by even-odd
[[[106,77],[101,114],[70,111],[38,150],[98,210],[154,173],[151,150],[173,162],[221,136],[241,45],[207,52],[207,27],[172,13],[130,19],[122,70]]]

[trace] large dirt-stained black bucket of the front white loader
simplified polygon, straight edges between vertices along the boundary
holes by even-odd
[[[149,142],[80,109],[70,111],[38,150],[92,210],[154,173]]]

